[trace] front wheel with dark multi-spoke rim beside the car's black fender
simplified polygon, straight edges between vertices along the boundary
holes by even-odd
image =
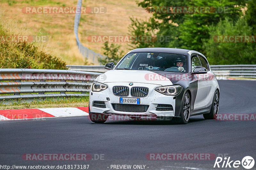
[[[188,92],[185,93],[182,101],[182,109],[180,111],[180,117],[175,118],[175,122],[178,124],[187,124],[190,117],[191,100]]]

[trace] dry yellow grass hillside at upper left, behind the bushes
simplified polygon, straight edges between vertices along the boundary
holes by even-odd
[[[1,23],[15,34],[47,35],[47,43],[37,43],[39,48],[54,56],[60,56],[67,64],[84,64],[85,60],[76,46],[73,24],[75,14],[25,14],[21,11],[28,6],[76,6],[77,0],[2,0],[0,2]],[[143,8],[134,1],[124,0],[87,0],[83,6],[106,7],[105,14],[82,14],[79,26],[79,37],[84,46],[102,54],[103,43],[87,41],[90,35],[127,35],[131,23],[129,17],[146,19],[150,17]],[[4,13],[3,13],[4,12]],[[117,43],[122,50],[129,50],[128,43]],[[97,65],[97,61],[95,65]],[[92,61],[89,61],[92,62]]]

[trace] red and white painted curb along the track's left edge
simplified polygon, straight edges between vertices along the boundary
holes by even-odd
[[[88,107],[0,110],[0,120],[34,119],[43,117],[88,116]]]

